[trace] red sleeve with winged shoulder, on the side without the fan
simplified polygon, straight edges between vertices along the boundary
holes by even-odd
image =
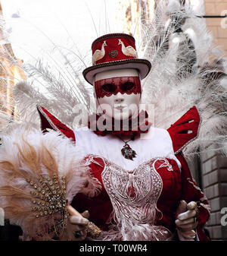
[[[201,207],[198,216],[197,236],[199,240],[206,241],[209,239],[204,232],[204,225],[210,217],[210,205],[201,188],[198,187],[192,178],[188,163],[182,153],[183,148],[197,138],[200,122],[201,119],[197,108],[193,106],[182,118],[171,125],[167,131],[173,142],[174,153],[182,165],[182,191],[180,200],[184,200],[187,203],[190,201],[200,201]]]

